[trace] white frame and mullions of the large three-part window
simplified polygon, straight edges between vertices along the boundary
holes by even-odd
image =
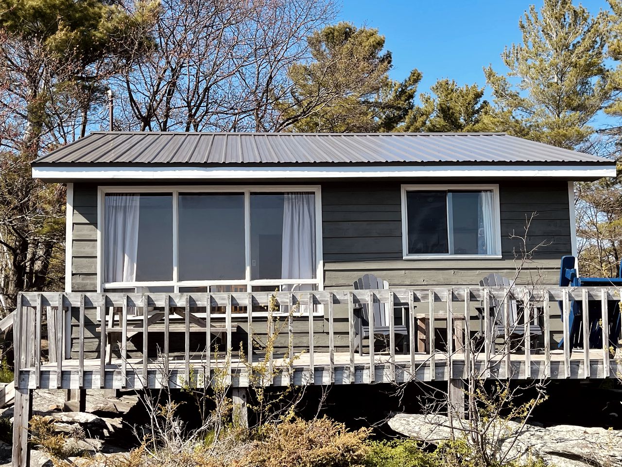
[[[245,277],[241,280],[179,280],[179,264],[177,252],[177,236],[179,228],[179,194],[181,193],[236,193],[244,195],[244,258],[246,262]],[[271,192],[307,192],[315,194],[315,279],[262,279],[251,280],[251,193]],[[104,245],[104,197],[111,193],[164,193],[172,195],[173,208],[173,276],[170,281],[132,281],[109,282],[103,280]],[[97,202],[97,286],[98,292],[113,288],[132,288],[142,286],[172,286],[172,293],[179,293],[180,287],[209,287],[213,285],[246,285],[251,291],[252,286],[286,284],[313,284],[318,290],[324,290],[323,257],[322,257],[322,190],[318,185],[279,185],[279,186],[99,186]],[[322,307],[315,307],[313,314],[323,315]],[[238,316],[238,314],[236,314]],[[246,316],[240,313],[239,316]]]

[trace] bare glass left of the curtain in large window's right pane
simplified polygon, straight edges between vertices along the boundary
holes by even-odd
[[[251,278],[281,278],[283,194],[251,195]]]

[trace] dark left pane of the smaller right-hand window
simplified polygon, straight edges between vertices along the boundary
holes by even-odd
[[[408,253],[433,254],[449,251],[447,240],[447,192],[406,193]]]

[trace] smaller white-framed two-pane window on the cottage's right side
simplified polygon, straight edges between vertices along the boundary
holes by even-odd
[[[404,257],[498,256],[498,187],[403,186]]]

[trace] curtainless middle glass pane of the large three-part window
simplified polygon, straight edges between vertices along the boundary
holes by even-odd
[[[244,195],[179,195],[179,279],[244,279]]]

